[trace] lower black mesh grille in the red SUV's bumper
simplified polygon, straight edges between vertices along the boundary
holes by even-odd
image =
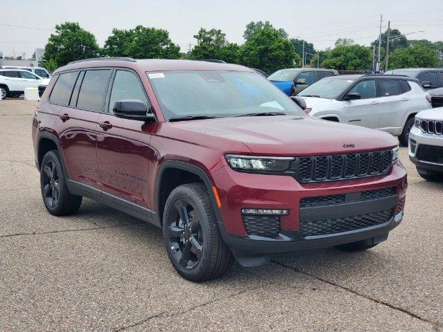
[[[315,237],[327,234],[361,230],[363,228],[381,225],[390,220],[392,209],[361,214],[359,216],[347,216],[336,219],[320,221],[300,221],[300,234],[302,237]]]

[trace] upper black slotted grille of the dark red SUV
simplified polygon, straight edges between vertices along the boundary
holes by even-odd
[[[391,160],[391,150],[297,157],[296,177],[302,183],[310,183],[386,174]]]

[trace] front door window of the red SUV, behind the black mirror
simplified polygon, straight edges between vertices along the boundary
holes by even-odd
[[[111,98],[109,99],[109,113],[112,113],[115,102],[124,99],[138,99],[150,108],[147,102],[145,89],[138,77],[130,71],[117,71],[112,84]]]

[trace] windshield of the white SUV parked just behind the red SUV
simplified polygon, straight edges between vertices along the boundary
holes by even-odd
[[[347,89],[352,82],[354,82],[354,80],[338,77],[326,77],[323,78],[323,80],[309,85],[306,89],[298,93],[298,95],[303,97],[335,99],[345,89]]]

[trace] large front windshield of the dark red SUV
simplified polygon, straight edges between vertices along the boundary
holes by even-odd
[[[276,112],[305,116],[293,100],[257,73],[165,71],[147,77],[167,120]]]

